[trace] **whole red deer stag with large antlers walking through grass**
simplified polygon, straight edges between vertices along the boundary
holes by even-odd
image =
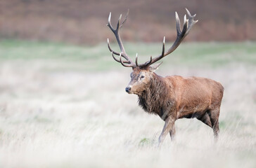
[[[120,62],[122,66],[132,67],[132,79],[125,88],[126,92],[129,94],[137,94],[139,97],[139,106],[141,106],[144,111],[157,114],[165,121],[165,126],[158,139],[159,144],[162,143],[168,132],[171,139],[174,139],[174,122],[179,118],[197,118],[205,123],[205,125],[212,127],[215,141],[219,134],[219,108],[222,103],[224,87],[215,80],[208,78],[184,78],[182,76],[167,76],[163,78],[154,73],[155,69],[157,69],[162,62],[151,66],[151,64],[158,62],[163,57],[172,53],[198,21],[193,20],[196,14],[191,15],[187,9],[186,12],[188,13],[188,19],[186,19],[185,15],[182,31],[180,29],[179,16],[175,13],[177,38],[172,47],[165,52],[164,37],[162,53],[155,58],[151,56],[151,59],[144,64],[138,64],[137,55],[135,63],[129,58],[120,38],[119,29],[127,20],[129,10],[122,22],[122,15],[120,15],[116,29],[113,29],[110,22],[111,13],[108,18],[107,26],[115,34],[121,52],[112,50],[109,40],[108,48],[110,52],[112,52],[115,61]],[[115,57],[115,55],[119,55],[119,59]]]

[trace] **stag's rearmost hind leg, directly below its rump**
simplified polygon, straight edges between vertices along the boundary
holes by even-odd
[[[209,116],[212,123],[212,130],[215,135],[215,141],[217,141],[219,137],[219,108],[210,110]]]

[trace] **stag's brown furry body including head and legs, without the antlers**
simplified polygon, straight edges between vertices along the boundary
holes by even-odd
[[[144,78],[141,78],[144,76]],[[138,94],[139,106],[165,120],[159,142],[169,132],[174,137],[174,121],[179,118],[197,118],[212,127],[215,139],[219,134],[219,108],[224,87],[208,78],[158,76],[152,67],[136,67],[131,74],[129,93]]]

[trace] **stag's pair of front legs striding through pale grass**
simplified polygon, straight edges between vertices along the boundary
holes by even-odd
[[[175,134],[174,121],[175,120],[173,118],[170,118],[170,117],[166,118],[165,126],[162,129],[162,133],[160,134],[160,137],[158,139],[158,146],[162,144],[162,141],[164,141],[168,133],[171,135],[171,138],[174,139],[174,134]]]

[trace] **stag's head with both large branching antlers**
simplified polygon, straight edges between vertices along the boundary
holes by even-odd
[[[124,45],[122,44],[122,41],[120,38],[119,29],[124,25],[124,22],[127,21],[129,10],[127,11],[127,15],[125,16],[125,18],[122,22],[121,22],[122,15],[120,15],[120,18],[118,19],[118,22],[117,22],[116,29],[114,29],[113,26],[111,25],[111,22],[110,22],[111,13],[110,13],[110,15],[108,17],[108,25],[107,26],[115,34],[115,38],[117,39],[117,43],[120,47],[121,52],[115,52],[114,50],[112,50],[112,48],[110,48],[109,40],[108,40],[108,49],[112,53],[113,59],[115,59],[116,62],[120,62],[122,64],[122,66],[125,66],[125,67],[132,67],[131,81],[130,81],[129,85],[125,88],[126,92],[128,92],[130,94],[141,95],[143,90],[146,90],[146,88],[148,87],[152,78],[154,78],[155,69],[158,69],[158,66],[160,66],[160,64],[162,64],[162,62],[160,64],[154,64],[154,63],[158,62],[163,57],[172,53],[179,46],[181,41],[184,40],[186,35],[188,35],[188,33],[191,30],[191,28],[193,27],[193,25],[195,25],[196,22],[198,22],[198,20],[193,20],[193,18],[196,16],[196,14],[191,15],[191,13],[189,13],[188,9],[186,9],[186,12],[188,14],[188,19],[186,19],[186,15],[184,15],[184,25],[183,25],[182,30],[180,29],[179,15],[177,12],[175,12],[177,38],[174,41],[174,44],[172,45],[172,47],[169,48],[165,52],[165,37],[164,37],[163,43],[162,43],[162,53],[154,58],[152,58],[152,56],[151,56],[151,59],[149,61],[145,62],[144,64],[138,63],[138,54],[136,54],[135,63],[132,61],[132,59],[129,58],[129,56],[127,55],[127,53],[124,50]],[[115,57],[115,55],[118,55],[119,59],[117,57]]]

